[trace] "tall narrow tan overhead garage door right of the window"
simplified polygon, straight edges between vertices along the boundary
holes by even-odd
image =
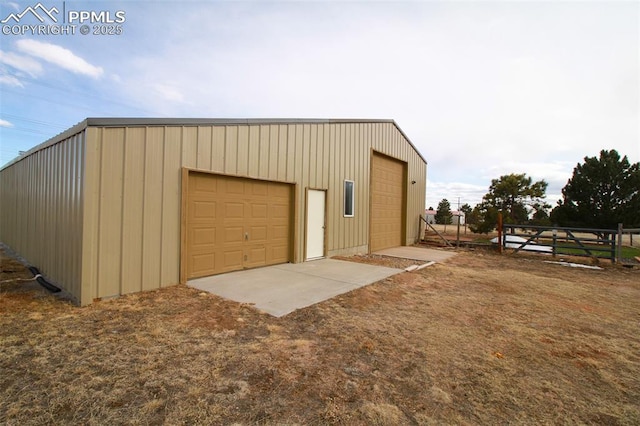
[[[373,154],[371,166],[372,252],[402,245],[404,163]]]

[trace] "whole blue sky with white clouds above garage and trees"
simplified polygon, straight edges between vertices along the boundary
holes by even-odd
[[[37,4],[2,0],[0,20]],[[144,116],[392,118],[428,161],[427,207],[507,173],[555,204],[585,156],[640,161],[638,2],[41,4],[123,11],[122,34],[3,29],[0,164],[86,117]]]

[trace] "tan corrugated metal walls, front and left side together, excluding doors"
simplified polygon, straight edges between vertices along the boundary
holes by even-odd
[[[295,262],[304,259],[305,190],[326,189],[327,255],[366,252],[373,151],[408,163],[412,244],[426,164],[391,122],[90,125],[0,172],[0,240],[83,305],[176,284],[186,167],[295,183]],[[345,179],[355,182],[349,218]]]

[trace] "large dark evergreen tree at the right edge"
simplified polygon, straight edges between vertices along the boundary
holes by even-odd
[[[584,157],[562,189],[551,220],[562,226],[615,229],[640,225],[640,163],[631,164],[615,149],[599,158]]]

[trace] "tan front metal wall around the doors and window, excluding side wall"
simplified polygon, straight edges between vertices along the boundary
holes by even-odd
[[[372,150],[408,162],[406,244],[418,237],[426,165],[393,123],[90,127],[82,303],[179,282],[182,167],[296,183],[294,261],[304,190],[327,189],[328,255],[366,252]],[[343,182],[356,188],[343,217]],[[417,183],[411,185],[411,181]]]

